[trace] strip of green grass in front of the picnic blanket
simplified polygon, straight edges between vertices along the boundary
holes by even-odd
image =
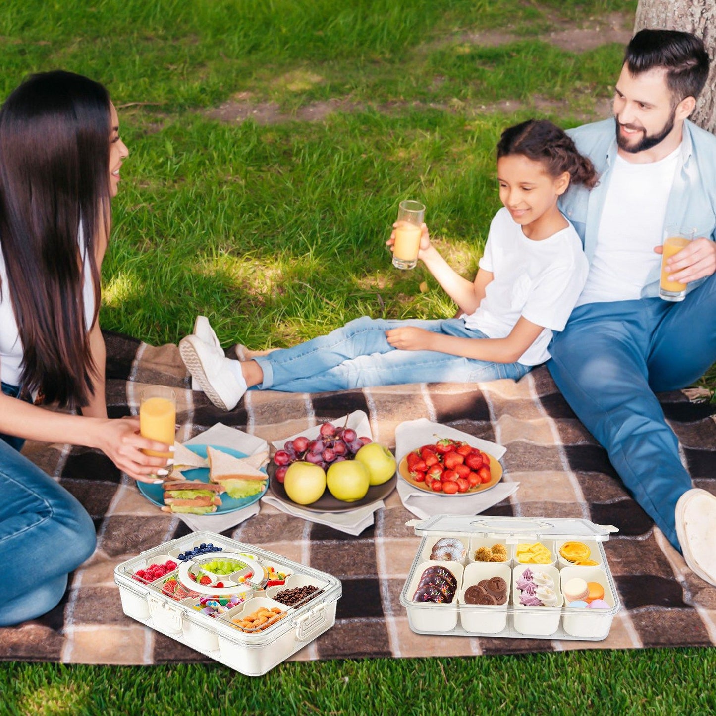
[[[249,679],[221,664],[0,671],[10,714],[685,714],[716,709],[714,649],[281,664]]]

